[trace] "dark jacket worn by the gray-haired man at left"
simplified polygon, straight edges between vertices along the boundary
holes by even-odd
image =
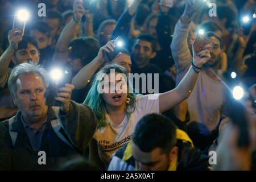
[[[93,137],[97,122],[92,109],[71,101],[68,113],[59,112],[62,133],[72,144],[63,142],[52,128],[51,121],[57,119],[49,107],[47,123],[42,137],[40,151],[46,152],[46,164],[39,165],[39,151],[32,149],[30,140],[20,121],[20,111],[15,115],[12,131],[17,132],[13,146],[9,133],[9,119],[0,123],[0,170],[49,170],[59,169],[68,160],[82,157]]]

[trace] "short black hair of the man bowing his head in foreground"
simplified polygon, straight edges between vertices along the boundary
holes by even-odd
[[[176,145],[177,127],[162,114],[147,114],[139,120],[133,132],[133,142],[143,152],[151,152],[157,147],[164,153]]]

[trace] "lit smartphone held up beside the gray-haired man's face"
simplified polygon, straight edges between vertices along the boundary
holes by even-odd
[[[46,93],[44,93],[44,97],[46,97],[46,105],[47,106],[57,106],[60,107],[62,102],[55,100],[57,93],[60,92],[59,89],[61,87],[65,87],[65,84],[71,83],[72,72],[71,69],[66,67],[62,69],[63,77],[60,78],[59,81],[51,79],[49,81],[49,85],[46,89]]]

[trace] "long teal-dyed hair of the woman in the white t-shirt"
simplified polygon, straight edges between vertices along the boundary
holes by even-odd
[[[114,69],[115,73],[123,73],[126,75],[126,83],[127,83],[127,97],[130,98],[130,103],[126,104],[125,106],[125,113],[127,115],[127,118],[130,118],[131,113],[135,110],[135,104],[136,104],[136,98],[137,96],[140,96],[141,94],[136,94],[133,89],[133,85],[130,84],[129,76],[125,70],[125,68],[117,65],[117,64],[110,64],[106,65],[104,68],[102,68],[94,77],[92,87],[89,90],[89,93],[87,97],[85,98],[84,104],[87,104],[92,108],[94,111],[98,125],[97,129],[100,127],[105,127],[107,125],[107,118],[106,118],[106,107],[105,107],[105,101],[102,97],[102,94],[98,92],[98,85],[100,85],[100,82],[103,80],[103,75],[108,75],[110,73],[110,70]],[[133,90],[132,93],[129,93],[129,90]]]

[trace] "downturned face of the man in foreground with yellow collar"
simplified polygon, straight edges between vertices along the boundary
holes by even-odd
[[[135,143],[132,143],[131,148],[139,171],[167,171],[170,166],[169,154],[163,153],[159,147],[151,152],[143,152]]]

